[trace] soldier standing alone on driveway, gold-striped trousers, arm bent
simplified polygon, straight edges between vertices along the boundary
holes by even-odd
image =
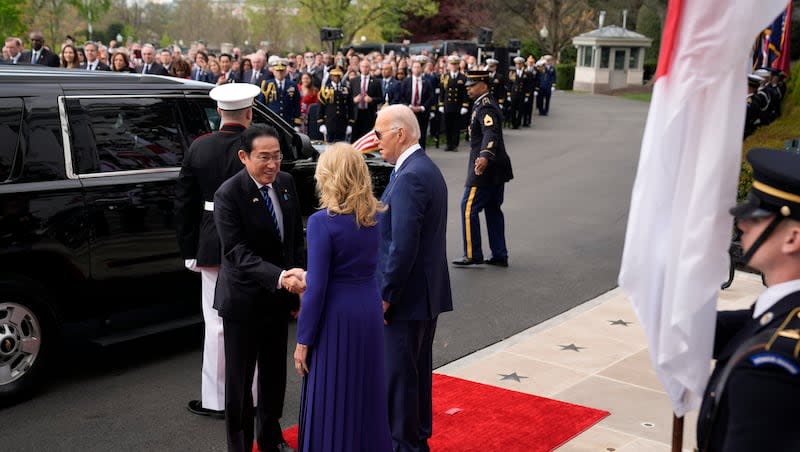
[[[469,125],[470,154],[467,181],[461,200],[461,224],[464,257],[453,264],[483,264],[508,267],[505,219],[500,207],[506,182],[514,174],[511,160],[503,142],[503,114],[489,93],[488,71],[469,71],[467,90],[475,102]],[[486,261],[481,250],[481,230],[478,214],[486,215],[486,230],[492,257]]]

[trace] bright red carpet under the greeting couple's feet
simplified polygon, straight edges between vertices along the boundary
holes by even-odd
[[[434,452],[550,451],[608,416],[607,411],[433,375]],[[284,431],[297,445],[297,426]]]

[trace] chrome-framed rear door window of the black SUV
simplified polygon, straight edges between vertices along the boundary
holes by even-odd
[[[79,174],[178,167],[183,140],[178,98],[69,99],[67,115]]]

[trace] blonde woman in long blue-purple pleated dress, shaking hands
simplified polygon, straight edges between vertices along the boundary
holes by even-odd
[[[306,292],[295,369],[303,379],[299,450],[391,451],[377,212],[364,158],[349,144],[319,158],[320,211],[308,219]]]

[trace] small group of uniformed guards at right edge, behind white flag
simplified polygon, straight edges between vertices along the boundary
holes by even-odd
[[[786,74],[772,68],[757,69],[747,76],[747,86],[745,138],[780,117],[781,102],[786,94]]]

